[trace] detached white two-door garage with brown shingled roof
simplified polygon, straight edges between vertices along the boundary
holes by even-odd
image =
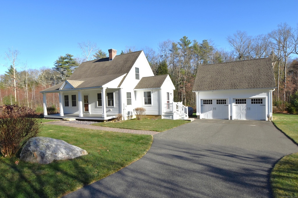
[[[201,65],[193,86],[197,118],[272,120],[271,58]]]

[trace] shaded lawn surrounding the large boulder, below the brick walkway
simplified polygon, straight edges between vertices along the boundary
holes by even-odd
[[[61,197],[141,158],[153,137],[56,125],[39,136],[64,140],[89,154],[51,164],[32,164],[0,154],[0,197]]]

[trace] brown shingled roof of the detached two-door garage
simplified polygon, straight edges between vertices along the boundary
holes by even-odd
[[[275,88],[271,58],[198,66],[193,91]]]

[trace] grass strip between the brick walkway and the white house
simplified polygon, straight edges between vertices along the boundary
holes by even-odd
[[[147,131],[158,131],[163,132],[172,129],[176,126],[188,123],[190,121],[185,120],[168,120],[168,119],[142,119],[142,120],[125,120],[121,122],[99,122],[92,125],[96,126],[107,126],[121,129],[138,129]]]

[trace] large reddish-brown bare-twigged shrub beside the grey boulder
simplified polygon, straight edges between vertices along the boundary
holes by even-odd
[[[41,123],[28,107],[3,105],[0,107],[0,150],[12,157],[32,137],[40,132]]]

